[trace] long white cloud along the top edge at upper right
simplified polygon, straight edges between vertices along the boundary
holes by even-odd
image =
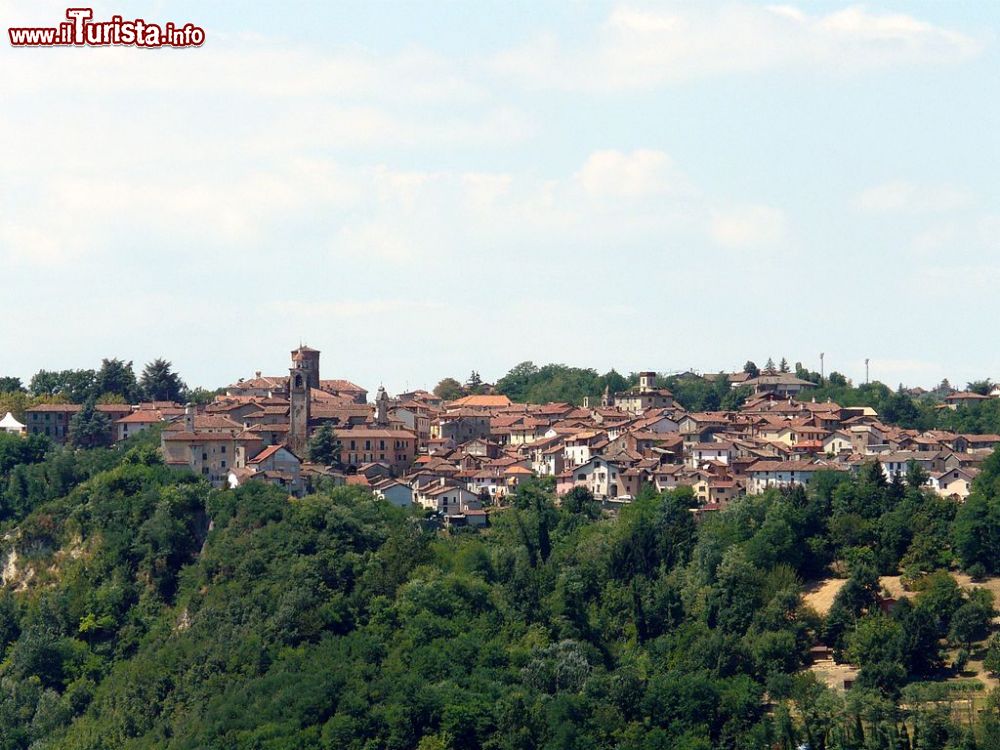
[[[810,15],[791,6],[616,7],[589,46],[541,35],[493,67],[538,88],[644,89],[779,67],[857,72],[956,63],[980,40],[900,13],[852,6]]]

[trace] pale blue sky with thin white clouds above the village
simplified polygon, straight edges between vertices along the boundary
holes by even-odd
[[[1000,3],[93,8],[206,41],[0,0],[0,375],[1000,379]]]

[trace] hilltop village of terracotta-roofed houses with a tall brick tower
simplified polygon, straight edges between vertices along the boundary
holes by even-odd
[[[712,376],[721,377],[721,376]],[[557,495],[585,487],[606,506],[646,485],[692,488],[698,512],[744,494],[808,484],[822,470],[856,472],[877,461],[887,479],[915,462],[942,496],[964,499],[998,435],[919,432],[880,421],[869,407],[842,407],[809,395],[815,384],[780,371],[727,376],[749,390],[738,410],[688,412],[642,372],[599,403],[513,403],[482,393],[443,401],[423,390],[390,397],[346,380],[326,380],[320,352],[291,352],[287,375],[241,379],[203,406],[102,404],[115,440],[163,425],[168,465],[217,487],[264,481],[301,495],[318,481],[370,487],[390,502],[417,504],[450,524],[481,525],[519,483],[554,477]],[[488,389],[487,389],[488,391]],[[956,393],[962,398],[990,396]],[[948,400],[946,400],[948,401]],[[81,407],[41,404],[27,432],[64,441]],[[325,433],[332,455],[310,460]]]

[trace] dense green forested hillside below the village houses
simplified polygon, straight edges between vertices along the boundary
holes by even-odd
[[[996,572],[997,457],[961,508],[874,469],[698,522],[687,491],[608,518],[534,484],[447,536],[359,488],[210,490],[141,444],[21,442],[0,446],[5,750],[1000,741],[1000,700],[956,682],[963,651],[1000,661],[992,598],[944,572]],[[831,571],[823,617],[803,584]],[[892,573],[912,597],[886,613]],[[806,669],[821,641],[860,666],[847,693]]]

